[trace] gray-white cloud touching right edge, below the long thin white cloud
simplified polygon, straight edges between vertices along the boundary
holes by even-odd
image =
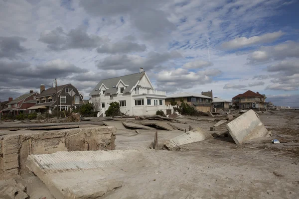
[[[283,60],[286,58],[299,58],[299,42],[286,41],[275,46],[262,46],[248,57],[249,63]]]

